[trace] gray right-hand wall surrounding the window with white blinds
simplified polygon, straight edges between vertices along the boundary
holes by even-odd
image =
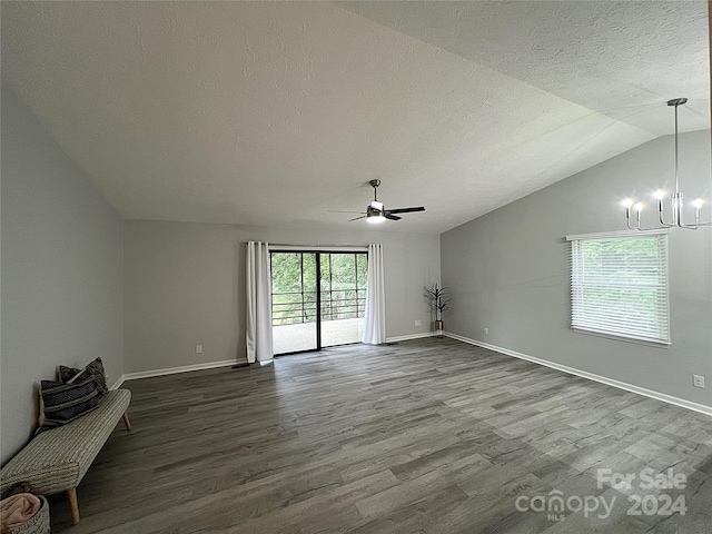
[[[454,334],[712,406],[712,228],[670,231],[672,346],[571,330],[564,236],[625,228],[621,201],[673,188],[673,139],[650,141],[441,236]],[[710,131],[681,136],[681,189],[708,199]],[[689,208],[690,209],[690,208]],[[690,212],[690,211],[689,211]],[[484,328],[490,334],[484,334]],[[692,387],[692,374],[706,389]]]

